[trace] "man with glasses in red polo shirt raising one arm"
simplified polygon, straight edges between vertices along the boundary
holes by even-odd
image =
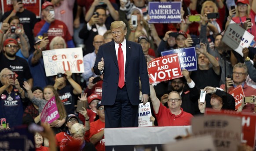
[[[150,99],[157,118],[158,126],[187,126],[193,117],[190,113],[183,111],[180,107],[182,100],[177,91],[172,91],[168,95],[168,109],[159,101],[153,85],[150,84]]]

